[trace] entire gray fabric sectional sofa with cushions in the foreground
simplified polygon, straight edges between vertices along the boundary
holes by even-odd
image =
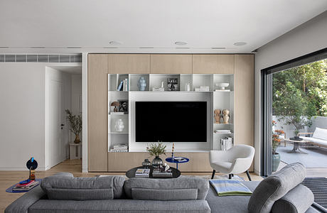
[[[226,197],[218,197],[202,178],[124,180],[122,176],[74,178],[58,173],[43,179],[41,186],[5,212],[318,212],[310,207],[312,192],[299,185],[303,170],[301,164],[286,166],[262,182],[244,182],[252,196]]]

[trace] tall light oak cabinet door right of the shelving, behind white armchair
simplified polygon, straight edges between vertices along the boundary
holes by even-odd
[[[254,146],[254,55],[235,55],[235,144]]]

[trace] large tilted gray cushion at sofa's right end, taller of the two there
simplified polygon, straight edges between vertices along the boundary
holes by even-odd
[[[250,197],[247,209],[250,213],[269,213],[275,201],[299,185],[306,177],[301,163],[286,165],[282,170],[262,180]]]

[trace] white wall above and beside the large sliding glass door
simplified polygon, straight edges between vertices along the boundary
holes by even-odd
[[[285,33],[279,38],[259,48],[255,55],[255,141],[254,147],[256,155],[254,157],[254,171],[260,171],[260,154],[261,151],[261,135],[260,135],[260,121],[261,121],[261,82],[260,70],[277,65],[281,62],[291,60],[317,50],[327,47],[327,11],[321,13],[319,16],[307,21],[306,23],[294,28],[289,33]]]

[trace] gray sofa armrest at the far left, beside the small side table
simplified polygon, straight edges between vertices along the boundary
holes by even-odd
[[[33,188],[25,195],[19,197],[13,203],[11,203],[4,210],[5,213],[28,213],[28,208],[31,207],[35,202],[41,199],[41,197],[45,196],[45,192],[41,189],[40,185]]]

